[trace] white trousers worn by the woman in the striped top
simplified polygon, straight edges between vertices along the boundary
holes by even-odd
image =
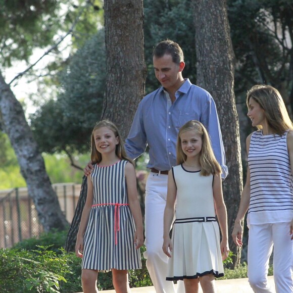
[[[277,293],[293,292],[293,240],[289,222],[250,225],[248,239],[248,278],[256,293],[271,293],[267,275],[274,247],[274,281]]]

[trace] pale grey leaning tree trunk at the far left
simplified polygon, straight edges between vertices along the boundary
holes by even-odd
[[[45,231],[68,226],[37,144],[29,128],[23,109],[0,72],[0,111],[2,125],[8,134],[20,165],[29,196],[33,199],[40,223]]]

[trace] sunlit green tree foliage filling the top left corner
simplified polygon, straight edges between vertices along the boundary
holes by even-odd
[[[34,48],[52,45],[60,31],[65,34],[79,18],[72,42],[81,45],[103,21],[101,1],[9,0],[0,2],[0,52],[2,65],[25,60]],[[57,48],[55,53],[59,53]]]

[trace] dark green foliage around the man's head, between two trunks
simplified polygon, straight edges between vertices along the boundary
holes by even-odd
[[[146,92],[160,85],[153,69],[153,48],[167,38],[181,46],[185,56],[183,76],[196,83],[195,30],[191,5],[190,0],[144,0],[144,49],[148,67]]]

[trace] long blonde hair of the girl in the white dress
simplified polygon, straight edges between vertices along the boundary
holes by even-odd
[[[179,129],[176,146],[177,164],[180,165],[186,161],[186,155],[183,153],[181,145],[181,135],[189,130],[195,131],[202,137],[202,150],[200,153],[200,164],[202,167],[201,175],[208,176],[210,174],[221,174],[222,169],[214,155],[208,131],[205,126],[197,120],[190,120]]]

